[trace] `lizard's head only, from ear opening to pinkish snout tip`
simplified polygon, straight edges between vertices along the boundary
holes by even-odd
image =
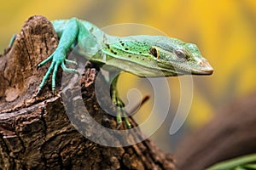
[[[163,71],[175,70],[177,75],[211,75],[212,66],[193,43],[182,42],[171,37],[161,37],[149,49]]]

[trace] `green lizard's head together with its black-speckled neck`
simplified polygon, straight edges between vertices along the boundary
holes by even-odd
[[[171,37],[131,36],[108,44],[108,65],[140,77],[211,75],[212,66],[193,43]]]

